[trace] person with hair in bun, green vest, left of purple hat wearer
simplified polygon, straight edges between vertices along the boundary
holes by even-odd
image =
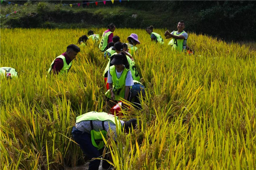
[[[108,30],[104,31],[102,38],[99,43],[99,50],[104,52],[107,49],[108,43],[112,42],[113,32],[115,31],[116,26],[111,23],[108,25]]]

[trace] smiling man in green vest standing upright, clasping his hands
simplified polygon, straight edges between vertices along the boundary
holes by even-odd
[[[178,31],[172,31],[171,33],[167,30],[164,33],[166,39],[173,38],[168,45],[172,45],[172,49],[177,51],[186,51],[186,41],[188,39],[188,34],[184,31],[185,23],[180,21],[177,25]]]

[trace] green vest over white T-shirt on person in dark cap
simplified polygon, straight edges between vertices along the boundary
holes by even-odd
[[[127,76],[127,73],[129,70],[127,68],[124,68],[120,78],[117,78],[117,76],[116,76],[116,67],[114,65],[112,65],[109,68],[109,71],[110,71],[110,74],[111,74],[112,80],[113,80],[113,93],[115,94],[115,100],[120,101],[121,97],[122,98],[125,97],[125,79],[126,79],[126,76]],[[109,99],[111,99],[110,90],[108,90],[105,93],[105,96],[107,96]]]

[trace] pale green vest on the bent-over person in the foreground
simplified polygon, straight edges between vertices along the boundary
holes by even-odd
[[[98,150],[100,150],[102,147],[104,147],[104,141],[102,140],[102,135],[104,136],[104,138],[107,135],[107,131],[105,130],[104,127],[104,121],[111,121],[113,122],[115,125],[117,125],[116,127],[118,128],[117,130],[122,130],[122,125],[121,122],[118,120],[117,116],[114,116],[112,114],[108,114],[105,112],[96,112],[96,111],[91,111],[88,113],[84,113],[81,116],[76,117],[76,123],[79,123],[81,121],[93,121],[93,120],[100,120],[102,121],[102,127],[103,130],[94,130],[93,126],[91,124],[91,138],[92,138],[92,144],[94,147],[97,147]],[[101,135],[102,133],[102,135]]]

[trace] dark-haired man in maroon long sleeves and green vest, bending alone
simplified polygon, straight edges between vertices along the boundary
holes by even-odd
[[[72,65],[72,60],[76,58],[76,55],[80,52],[80,48],[74,44],[70,44],[67,46],[66,52],[56,57],[49,70],[48,73],[51,74],[65,74],[67,73]]]

